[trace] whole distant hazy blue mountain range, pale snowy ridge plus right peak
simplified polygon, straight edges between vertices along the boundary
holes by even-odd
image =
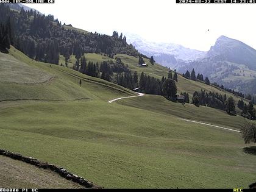
[[[247,44],[221,36],[209,51],[197,51],[179,44],[151,43],[138,35],[127,34],[127,41],[157,63],[180,73],[196,71],[224,87],[244,93],[256,93],[256,50]]]

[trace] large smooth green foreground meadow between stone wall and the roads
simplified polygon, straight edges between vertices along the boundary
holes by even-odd
[[[256,156],[240,133],[101,101],[0,109],[1,148],[63,166],[105,188],[246,188]]]

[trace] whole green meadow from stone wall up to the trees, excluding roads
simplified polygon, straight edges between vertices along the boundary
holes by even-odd
[[[49,71],[49,64],[13,48],[10,54],[54,80],[0,83],[0,148],[63,166],[105,188],[247,188],[255,182],[256,156],[243,152],[240,133],[179,119],[238,129],[239,116],[184,108],[160,96],[109,104],[135,93],[62,66]],[[3,101],[9,98],[17,101]]]

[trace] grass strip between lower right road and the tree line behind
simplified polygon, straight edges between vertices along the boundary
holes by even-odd
[[[180,103],[168,101],[163,96],[157,95],[146,94],[140,98],[129,98],[117,102],[121,105],[143,108],[144,110],[149,110],[151,112],[201,121],[218,126],[230,127],[237,130],[239,130],[241,126],[249,121],[239,115],[228,115],[225,111],[218,110],[216,108],[204,106],[196,107],[193,104],[187,103],[183,105]]]

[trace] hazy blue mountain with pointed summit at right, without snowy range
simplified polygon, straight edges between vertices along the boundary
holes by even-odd
[[[180,63],[177,69],[185,73],[193,68],[224,87],[256,93],[256,87],[251,86],[256,79],[256,50],[241,41],[221,36],[203,59]]]

